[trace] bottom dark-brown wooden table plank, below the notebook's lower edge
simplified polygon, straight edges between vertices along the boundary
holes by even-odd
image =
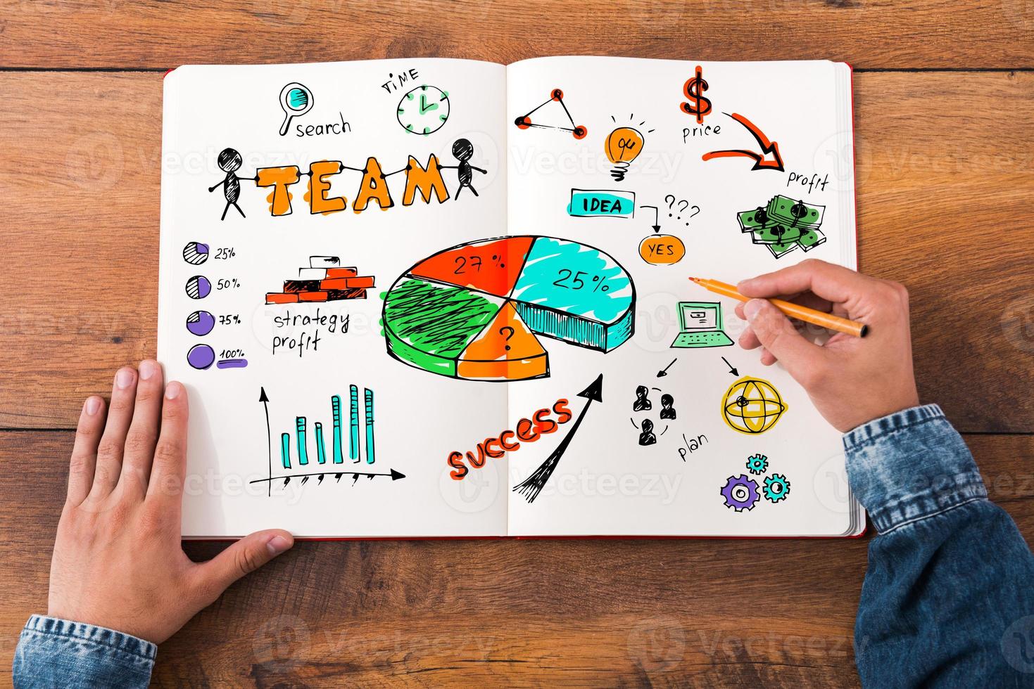
[[[0,432],[32,495],[0,508],[0,666],[45,612],[72,439]],[[967,442],[1030,540],[1034,438]],[[856,686],[868,540],[299,543],[162,645],[154,686]]]

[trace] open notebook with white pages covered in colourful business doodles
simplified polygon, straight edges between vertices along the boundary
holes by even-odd
[[[169,73],[158,356],[190,395],[184,534],[860,533],[840,434],[688,280],[855,267],[850,77]]]

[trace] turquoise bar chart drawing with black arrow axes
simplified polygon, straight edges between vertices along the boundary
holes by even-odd
[[[341,397],[338,395],[332,395],[330,398],[330,416],[331,422],[333,425],[333,431],[331,435],[332,446],[330,452],[327,451],[326,441],[324,439],[324,427],[322,421],[314,421],[312,424],[312,434],[313,439],[309,439],[309,419],[307,416],[295,416],[294,426],[294,443],[292,443],[292,433],[284,432],[280,434],[280,467],[283,473],[273,473],[273,438],[271,427],[269,425],[269,397],[266,395],[266,388],[263,387],[258,397],[258,401],[262,402],[266,410],[266,429],[267,429],[267,441],[269,445],[269,477],[268,478],[256,478],[251,483],[262,483],[266,482],[269,486],[267,495],[272,495],[272,486],[274,482],[282,481],[282,486],[286,487],[293,479],[299,479],[304,486],[309,478],[315,476],[316,484],[323,483],[324,478],[328,476],[333,476],[336,481],[340,481],[342,476],[352,476],[352,484],[355,486],[359,480],[360,476],[366,476],[370,480],[377,476],[386,476],[391,478],[393,481],[399,478],[405,478],[405,474],[398,472],[394,469],[389,469],[387,472],[375,472],[371,471],[372,465],[376,463],[376,451],[374,443],[374,424],[373,424],[373,406],[374,406],[374,395],[373,390],[368,387],[363,388],[362,398],[359,395],[358,385],[348,386],[348,434],[347,434],[347,455],[351,462],[345,463],[344,461],[344,430],[342,429],[342,413],[341,413]],[[360,425],[362,425],[362,431],[360,430]],[[311,444],[310,444],[311,443]],[[294,445],[294,453],[292,452],[292,445]],[[310,447],[315,449],[315,463],[318,468],[317,471],[311,471],[312,465],[309,462]],[[328,457],[330,458],[330,463],[328,464]],[[364,462],[365,460],[365,462]],[[348,466],[359,464],[360,467]],[[365,464],[366,466],[362,466]],[[308,472],[296,473],[295,470],[299,468],[310,469]],[[362,468],[363,471],[359,469]]]

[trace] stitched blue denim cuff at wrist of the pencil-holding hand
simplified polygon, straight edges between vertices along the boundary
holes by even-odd
[[[879,533],[987,499],[973,456],[936,404],[849,431],[844,450],[848,482]]]

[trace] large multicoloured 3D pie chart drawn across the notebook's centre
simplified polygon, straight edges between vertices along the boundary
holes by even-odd
[[[578,242],[515,236],[428,256],[385,294],[388,353],[452,378],[549,375],[541,337],[611,351],[634,332],[635,284],[610,255]]]

